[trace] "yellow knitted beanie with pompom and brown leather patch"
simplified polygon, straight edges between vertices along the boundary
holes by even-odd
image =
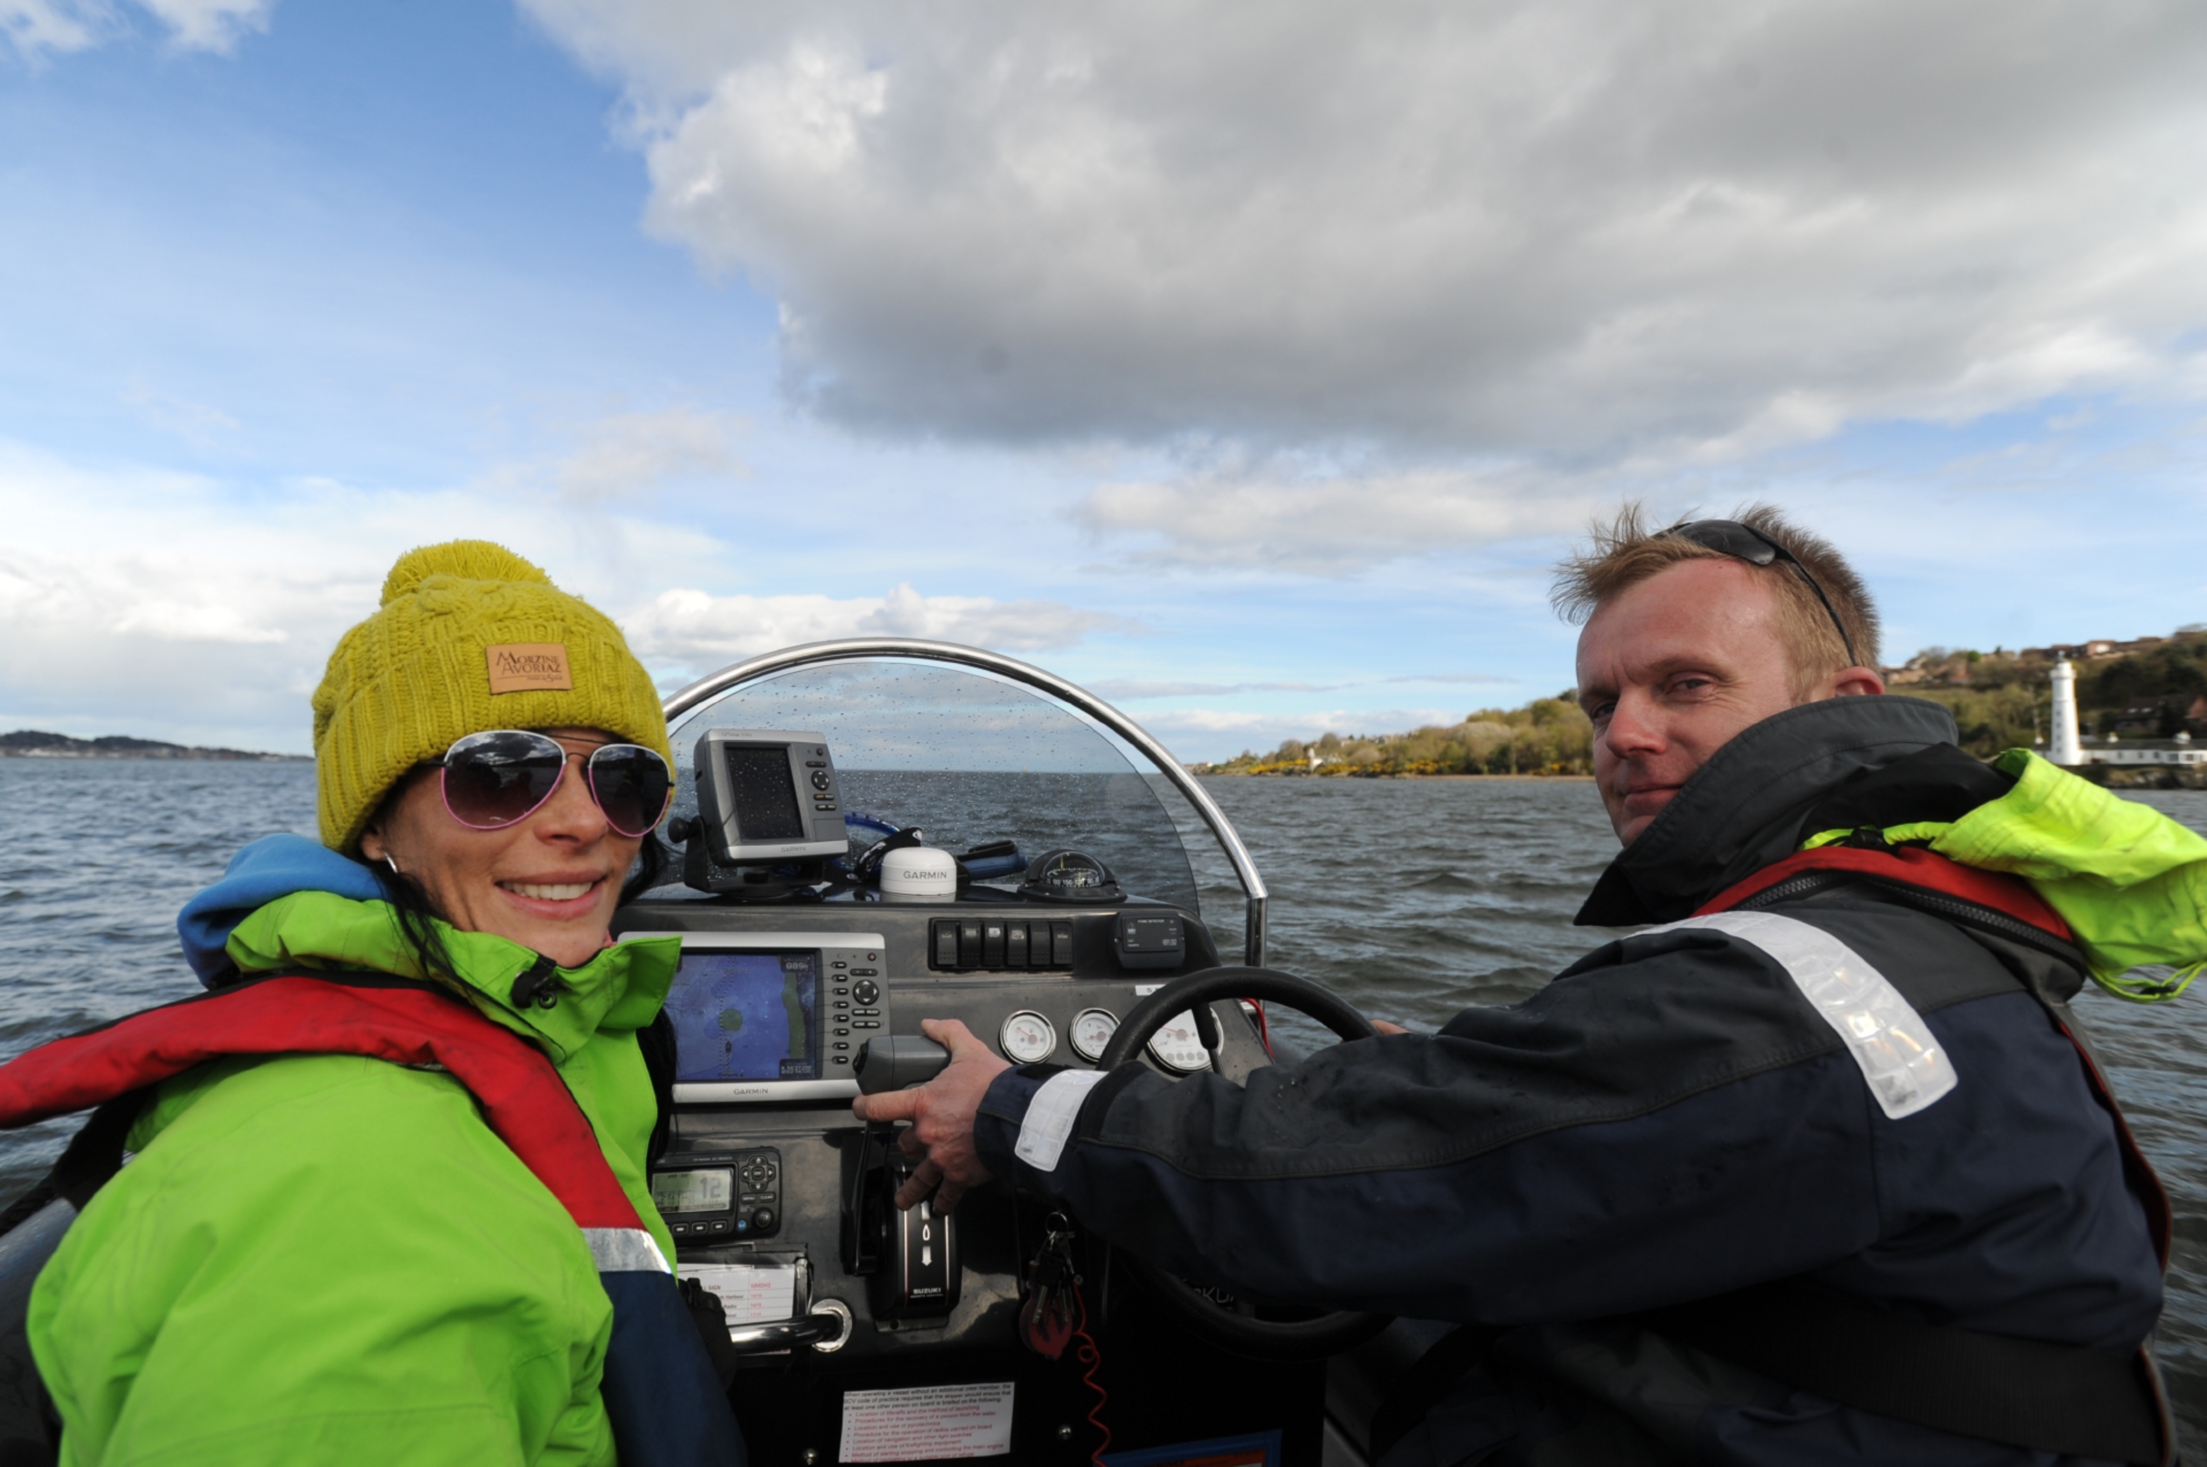
[[[651,675],[603,611],[490,540],[411,549],[313,690],[322,845],[351,854],[406,770],[486,728],[603,728],[673,768]]]

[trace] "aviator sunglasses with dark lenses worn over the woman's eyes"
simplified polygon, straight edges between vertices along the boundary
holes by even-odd
[[[525,728],[475,732],[444,750],[437,779],[444,807],[468,829],[505,829],[536,814],[567,774],[558,739]],[[589,799],[605,823],[636,838],[660,823],[675,781],[667,761],[640,743],[605,743],[583,759]]]

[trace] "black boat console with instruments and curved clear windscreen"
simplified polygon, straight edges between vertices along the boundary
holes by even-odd
[[[1119,1463],[1340,1460],[1324,1354],[1375,1326],[1156,1275],[1002,1180],[898,1211],[909,1163],[850,1110],[945,1063],[923,1019],[1013,1063],[1139,1054],[1234,1081],[1271,1063],[1243,1002],[1262,995],[1225,966],[1262,962],[1265,887],[1201,785],[1079,688],[927,642],[761,657],[678,693],[669,726],[684,885],[627,904],[616,935],[682,938],[651,1185],[678,1271],[726,1308],[753,1460],[1070,1467],[1104,1447],[1097,1423]],[[841,856],[828,818],[847,823]],[[916,847],[949,856],[896,858]],[[1220,874],[1240,885],[1225,900]],[[1240,953],[1220,953],[1220,909]],[[1205,975],[1223,988],[1174,1006]],[[1086,1343],[1051,1359],[1022,1308],[1064,1266]]]

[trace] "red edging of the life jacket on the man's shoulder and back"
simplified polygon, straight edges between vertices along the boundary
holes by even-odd
[[[1715,898],[1704,902],[1693,915],[1702,918],[1713,911],[1730,911],[1750,896],[1768,891],[1801,871],[1849,871],[1874,882],[1916,887],[1918,891],[1938,891],[1940,896],[1989,907],[1997,913],[2015,918],[2017,922],[2028,922],[2061,942],[2077,940],[2070,924],[2061,920],[2061,913],[2048,907],[2024,878],[2008,876],[2006,871],[1980,871],[1975,867],[1964,867],[1958,860],[1949,860],[1947,856],[1916,845],[1896,845],[1883,852],[1854,845],[1823,845],[1814,852],[1794,852],[1785,860],[1772,863],[1755,876],[1726,887]],[[2099,1101],[2101,1110],[2105,1110],[2114,1121],[2114,1138],[2123,1152],[2123,1176],[2130,1180],[2130,1189],[2145,1207],[2145,1227],[2154,1235],[2154,1253],[2161,1257],[2161,1271],[2167,1273],[2169,1238],[2176,1231],[2176,1211],[2169,1204],[2169,1189],[2161,1185],[2161,1174],[2156,1174],[2154,1165],[2145,1160],[2145,1152],[2139,1149],[2139,1138],[2130,1134],[2130,1121],[2123,1118],[2123,1107],[2117,1103],[2114,1090],[2108,1085],[2108,1077],[2101,1074],[2099,1063],[2092,1061],[2092,1052],[2083,1046],[2061,1013],[2048,1010],[2048,1019],[2053,1019],[2055,1028],[2061,1030],[2061,1037],[2070,1041],[2070,1048],[2077,1050],[2077,1063],[2083,1066],[2086,1083],[2092,1088],[2092,1099]]]

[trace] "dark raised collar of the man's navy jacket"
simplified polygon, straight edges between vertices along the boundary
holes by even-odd
[[[1832,697],[1770,715],[1693,772],[1578,909],[1580,927],[1693,915],[1750,871],[1792,854],[1801,823],[1841,783],[1955,741],[1953,715],[1922,697]]]

